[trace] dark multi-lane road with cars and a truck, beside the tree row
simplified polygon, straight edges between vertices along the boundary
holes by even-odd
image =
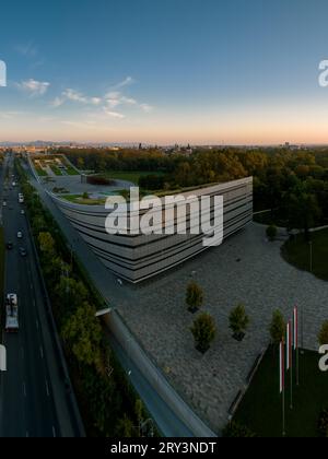
[[[12,186],[13,158],[8,157],[3,167],[7,170],[0,184],[3,193],[0,203],[7,202],[2,209],[4,239],[13,243],[13,249],[5,255],[4,293],[17,294],[20,330],[14,334],[1,331],[8,370],[0,376],[0,437],[57,437],[62,433],[49,372],[52,355],[47,355],[45,343],[44,329],[48,323],[40,314],[45,301],[26,215],[19,203],[20,190]],[[19,231],[23,233],[22,239],[17,238]],[[27,257],[20,255],[20,247],[27,250]]]

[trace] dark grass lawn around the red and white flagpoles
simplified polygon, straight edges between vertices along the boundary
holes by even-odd
[[[317,437],[320,411],[328,408],[328,373],[318,368],[319,354],[300,355],[300,386],[294,385],[294,409],[290,409],[290,376],[286,377],[286,436]],[[278,351],[269,349],[234,421],[260,437],[282,436],[282,396],[279,395]]]

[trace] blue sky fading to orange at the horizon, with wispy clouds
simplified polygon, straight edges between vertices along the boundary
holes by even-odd
[[[328,142],[325,0],[1,7],[0,141]]]

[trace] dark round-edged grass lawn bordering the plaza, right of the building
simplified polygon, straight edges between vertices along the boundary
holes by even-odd
[[[328,229],[313,233],[312,240],[313,273],[328,281]],[[297,235],[294,240],[288,240],[281,252],[289,263],[303,271],[311,271],[311,246],[303,235]]]

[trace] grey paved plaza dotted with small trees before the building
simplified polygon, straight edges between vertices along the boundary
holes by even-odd
[[[120,314],[177,391],[214,429],[227,422],[227,410],[269,343],[272,311],[288,317],[297,304],[304,315],[304,345],[318,349],[317,334],[328,319],[328,283],[301,272],[280,256],[282,242],[268,243],[263,226],[251,224],[185,266],[133,287],[133,302],[120,302]],[[202,356],[194,348],[195,319],[185,305],[186,287],[196,280],[204,291],[204,310],[215,317],[218,338]],[[251,323],[237,343],[229,314],[244,303]]]

